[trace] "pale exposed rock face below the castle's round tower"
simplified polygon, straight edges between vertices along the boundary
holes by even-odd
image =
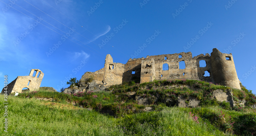
[[[213,97],[218,101],[226,101],[229,102],[230,106],[235,106],[235,101],[233,100],[233,94],[230,91],[223,92],[223,90],[215,90],[213,93]]]

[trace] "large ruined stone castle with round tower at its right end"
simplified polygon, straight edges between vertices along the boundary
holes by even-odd
[[[199,61],[205,61],[206,66],[199,66]],[[185,63],[185,69],[179,68],[180,62]],[[163,70],[164,64],[167,65],[168,70]],[[204,76],[206,71],[210,76]],[[211,55],[207,53],[192,57],[191,52],[181,52],[130,58],[126,64],[113,63],[111,55],[108,54],[104,68],[95,72],[86,72],[81,80],[89,77],[106,83],[106,86],[132,80],[144,83],[161,79],[190,79],[241,89],[232,54],[221,53],[216,48],[212,50]]]

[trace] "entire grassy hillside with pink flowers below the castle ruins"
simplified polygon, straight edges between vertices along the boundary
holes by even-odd
[[[235,101],[246,100],[246,107],[213,99],[216,89],[232,91]],[[165,101],[180,95],[196,97],[199,106],[182,108]],[[135,96],[151,104],[139,105]],[[0,99],[4,107],[4,96]],[[255,135],[256,113],[250,108],[255,102],[243,86],[238,90],[194,80],[129,82],[77,94],[40,90],[9,95],[8,132],[3,123],[0,127],[1,135]]]

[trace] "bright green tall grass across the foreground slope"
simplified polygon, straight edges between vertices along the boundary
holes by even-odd
[[[8,102],[8,133],[3,132],[1,123],[2,135],[222,135],[175,107],[113,118],[72,106],[49,106],[49,102],[34,98],[10,96]]]

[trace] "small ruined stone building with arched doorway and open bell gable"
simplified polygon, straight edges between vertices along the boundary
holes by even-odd
[[[34,76],[33,76],[34,75]],[[14,81],[7,85],[7,94],[21,93],[22,88],[29,90],[39,90],[44,73],[39,69],[32,69],[28,76],[18,76]],[[5,91],[3,88],[2,93]]]

